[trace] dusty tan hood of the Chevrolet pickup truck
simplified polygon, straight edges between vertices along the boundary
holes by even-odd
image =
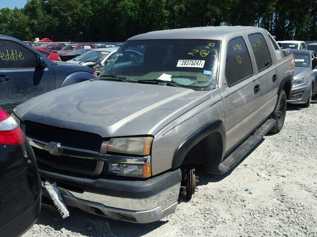
[[[14,109],[22,121],[92,132],[102,137],[155,135],[211,91],[93,80],[62,87]]]

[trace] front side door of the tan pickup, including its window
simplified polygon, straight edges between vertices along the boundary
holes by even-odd
[[[249,49],[242,37],[228,42],[225,78],[226,89],[220,94],[225,110],[228,152],[259,123],[256,110],[260,106],[260,87],[254,76]]]

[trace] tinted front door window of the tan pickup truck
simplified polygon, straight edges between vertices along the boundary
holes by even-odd
[[[230,40],[227,48],[225,76],[229,86],[253,75],[250,54],[242,37]]]

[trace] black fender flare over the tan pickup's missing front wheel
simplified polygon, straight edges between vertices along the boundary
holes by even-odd
[[[196,129],[194,132],[189,134],[175,150],[172,168],[175,169],[179,167],[187,155],[187,153],[201,140],[209,136],[214,132],[219,132],[222,138],[222,157],[224,155],[225,145],[226,145],[226,130],[224,128],[224,123],[220,119],[215,119],[207,122],[203,126]]]

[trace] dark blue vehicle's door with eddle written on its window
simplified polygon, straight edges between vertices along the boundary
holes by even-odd
[[[34,96],[56,88],[53,68],[38,67],[39,54],[15,41],[0,40],[0,106],[11,111]]]

